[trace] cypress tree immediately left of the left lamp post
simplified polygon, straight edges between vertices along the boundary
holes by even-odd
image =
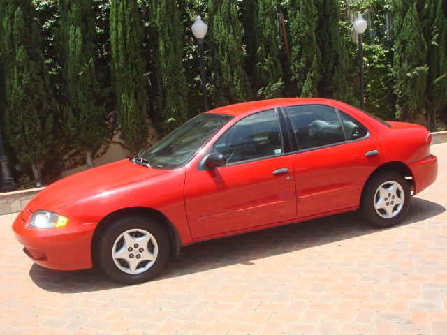
[[[188,85],[183,66],[183,29],[176,0],[152,1],[154,45],[154,120],[165,135],[184,123]]]

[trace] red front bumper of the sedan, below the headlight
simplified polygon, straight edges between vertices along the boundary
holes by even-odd
[[[33,262],[56,270],[91,268],[91,237],[94,224],[68,221],[65,227],[29,228],[31,211],[25,209],[13,223],[15,238]]]

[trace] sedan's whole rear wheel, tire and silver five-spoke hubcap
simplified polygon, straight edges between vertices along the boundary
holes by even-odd
[[[395,171],[383,171],[365,186],[360,210],[366,221],[385,228],[402,221],[410,200],[410,187],[405,177]]]

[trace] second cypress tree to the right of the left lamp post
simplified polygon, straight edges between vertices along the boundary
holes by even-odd
[[[259,98],[279,98],[284,89],[274,1],[258,0],[254,12],[254,88]]]

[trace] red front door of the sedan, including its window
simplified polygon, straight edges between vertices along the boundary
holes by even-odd
[[[238,121],[212,151],[226,156],[226,166],[186,170],[186,214],[194,239],[297,218],[293,155],[284,155],[275,110]]]

